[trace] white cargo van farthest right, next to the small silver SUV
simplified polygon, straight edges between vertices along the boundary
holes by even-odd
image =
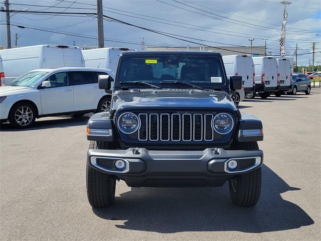
[[[280,90],[275,92],[276,96],[281,96],[284,92],[291,89],[291,76],[292,65],[289,58],[276,58],[279,78],[280,78]]]

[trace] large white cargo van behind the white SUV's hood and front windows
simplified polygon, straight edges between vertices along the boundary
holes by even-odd
[[[5,84],[33,69],[85,67],[81,48],[65,45],[35,45],[0,50]]]

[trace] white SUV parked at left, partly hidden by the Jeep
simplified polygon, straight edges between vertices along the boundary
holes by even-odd
[[[57,68],[29,71],[0,87],[0,121],[17,128],[32,126],[36,118],[109,109],[110,93],[98,88],[98,75],[110,69]]]

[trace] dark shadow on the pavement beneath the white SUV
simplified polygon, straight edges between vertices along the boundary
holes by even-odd
[[[51,128],[83,126],[83,125],[87,125],[88,119],[90,116],[85,115],[79,118],[72,118],[69,115],[63,115],[60,117],[64,117],[64,118],[36,119],[34,126],[27,129],[17,129],[11,126],[9,123],[2,123],[0,125],[0,131],[1,132],[21,132],[21,131],[34,131],[34,130],[51,129]]]

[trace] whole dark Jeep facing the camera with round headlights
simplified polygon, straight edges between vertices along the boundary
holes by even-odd
[[[87,125],[89,203],[111,205],[116,180],[130,187],[228,181],[233,203],[255,205],[263,129],[230,98],[241,87],[241,76],[227,79],[219,53],[121,53],[110,112],[92,115]],[[108,75],[99,76],[99,88],[110,89]]]

